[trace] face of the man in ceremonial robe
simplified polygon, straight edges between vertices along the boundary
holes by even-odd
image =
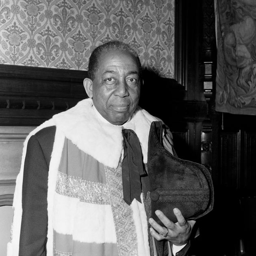
[[[93,80],[93,104],[111,124],[124,124],[139,102],[141,81],[135,56],[110,50],[100,56]]]

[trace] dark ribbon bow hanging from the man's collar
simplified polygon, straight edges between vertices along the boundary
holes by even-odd
[[[124,158],[122,161],[122,180],[124,201],[131,204],[135,198],[141,202],[141,176],[146,175],[141,145],[136,133],[130,129],[122,130],[124,138]]]

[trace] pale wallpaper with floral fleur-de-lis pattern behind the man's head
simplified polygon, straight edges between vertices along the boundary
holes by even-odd
[[[0,64],[87,70],[118,39],[143,67],[174,75],[175,0],[0,0]]]

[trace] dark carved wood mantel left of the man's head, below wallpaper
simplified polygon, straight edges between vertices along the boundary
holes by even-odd
[[[37,126],[87,98],[87,71],[0,65],[0,125]]]

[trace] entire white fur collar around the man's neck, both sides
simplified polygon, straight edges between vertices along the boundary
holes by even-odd
[[[136,132],[141,142],[143,161],[146,163],[150,124],[152,121],[157,121],[156,117],[137,107],[124,125],[113,125],[98,113],[90,98],[55,115],[53,120],[67,139],[70,139],[80,150],[113,168],[118,166],[121,156],[122,127]]]

